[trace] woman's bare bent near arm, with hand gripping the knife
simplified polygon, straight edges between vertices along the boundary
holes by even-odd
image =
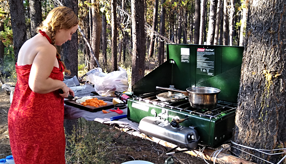
[[[35,93],[49,93],[54,90],[62,89],[62,97],[67,97],[69,93],[74,95],[73,91],[68,88],[61,80],[49,78],[56,61],[56,48],[49,44],[43,46],[33,60],[29,76],[29,87]]]

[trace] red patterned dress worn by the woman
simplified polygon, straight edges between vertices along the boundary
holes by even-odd
[[[8,113],[12,155],[16,164],[64,164],[64,106],[59,90],[47,94],[29,87],[31,64],[17,66],[17,84]],[[53,67],[50,78],[63,80],[63,66]]]

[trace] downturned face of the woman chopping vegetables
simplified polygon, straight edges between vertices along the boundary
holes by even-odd
[[[55,45],[61,46],[66,41],[72,39],[72,34],[76,32],[78,25],[72,27],[71,29],[59,29],[55,34]]]

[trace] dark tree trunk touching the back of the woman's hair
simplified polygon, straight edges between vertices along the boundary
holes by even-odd
[[[37,27],[43,21],[42,6],[40,0],[30,0],[30,17],[31,17],[31,37],[37,34]]]

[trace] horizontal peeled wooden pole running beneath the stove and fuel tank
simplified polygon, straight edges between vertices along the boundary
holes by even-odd
[[[163,140],[155,138],[155,137],[148,137],[148,136],[144,135],[143,133],[139,134],[137,131],[130,131],[130,132],[128,132],[128,130],[129,130],[128,128],[122,129],[122,131],[125,131],[126,133],[129,133],[129,134],[141,137],[141,138],[148,139],[150,141],[156,142],[156,143],[158,143],[160,145],[163,145],[163,146],[166,146],[166,147],[174,148],[174,147],[177,146],[177,145],[174,145],[172,143],[163,141]],[[177,150],[184,150],[184,149],[177,148]],[[201,155],[202,155],[202,157],[204,159],[213,161],[213,158],[210,159],[210,155],[214,151],[216,151],[216,150],[210,149],[210,148],[205,148],[203,153],[200,153],[198,150],[185,151],[185,153],[188,153],[188,154],[193,155],[193,156],[198,156],[198,157],[201,157]],[[242,159],[242,158],[239,158],[239,157],[235,157],[233,155],[226,154],[226,153],[223,153],[223,152],[219,153],[219,155],[217,156],[215,162],[216,163],[220,163],[220,164],[256,164],[256,163],[253,163],[251,161],[247,161],[245,159]]]

